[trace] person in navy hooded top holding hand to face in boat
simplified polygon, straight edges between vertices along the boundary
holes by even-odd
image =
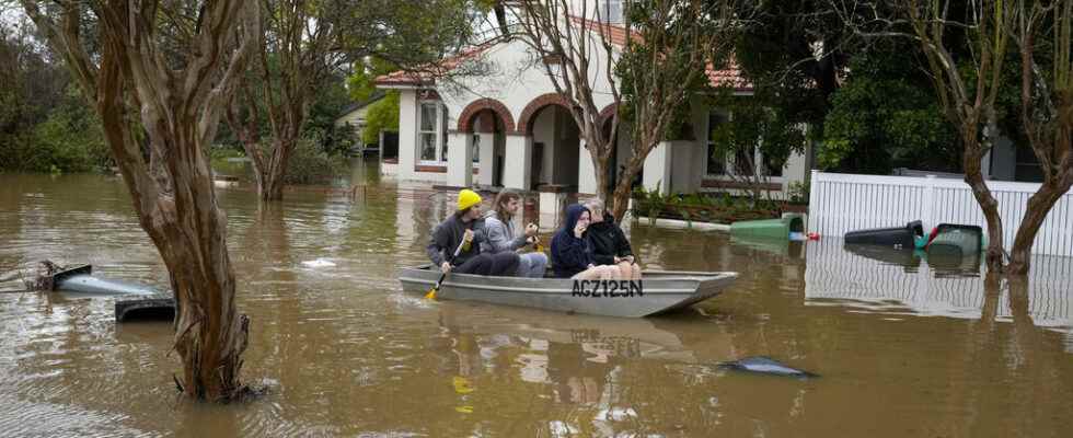
[[[552,268],[556,277],[581,280],[621,277],[618,266],[597,265],[592,260],[592,247],[585,239],[589,219],[589,209],[580,204],[566,208],[563,228],[552,238]]]

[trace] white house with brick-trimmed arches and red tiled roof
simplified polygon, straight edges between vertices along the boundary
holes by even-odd
[[[608,3],[620,2],[601,0],[602,5]],[[614,23],[621,13],[608,16]],[[614,24],[609,28],[611,39],[623,44],[623,28]],[[603,50],[598,41],[593,43],[593,50]],[[378,88],[401,93],[399,159],[396,163],[385,162],[381,172],[401,181],[453,187],[596,194],[592,162],[567,101],[555,92],[539,62],[552,62],[553,70],[557,67],[554,60],[534,58],[521,41],[497,41],[439,65],[450,70],[464,62],[483,62],[489,74],[457,78],[450,84],[408,72],[377,78]],[[592,59],[605,58],[598,53]],[[598,107],[610,122],[615,108],[602,70],[607,66],[593,65]],[[736,94],[752,94],[752,85],[737,69],[708,69],[706,73],[713,84],[730,85]],[[701,95],[690,100],[692,138],[665,141],[649,153],[641,177],[647,189],[658,187],[665,194],[738,191],[745,185],[734,172],[765,172],[769,188],[780,197],[792,182],[807,178],[810,151],[793,155],[783,169],[773,171],[742,169],[735,165],[734,158],[716,159],[708,132],[714,124],[728,123],[728,117],[726,112],[707,106],[706,101]],[[618,165],[609,170],[612,176],[632,155],[626,129],[620,125],[613,155]]]

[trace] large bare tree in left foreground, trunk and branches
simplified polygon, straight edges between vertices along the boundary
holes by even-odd
[[[168,266],[183,362],[176,383],[197,400],[241,396],[250,321],[234,303],[207,149],[256,44],[259,4],[21,2],[101,116],[141,227]],[[100,42],[92,55],[91,38]]]

